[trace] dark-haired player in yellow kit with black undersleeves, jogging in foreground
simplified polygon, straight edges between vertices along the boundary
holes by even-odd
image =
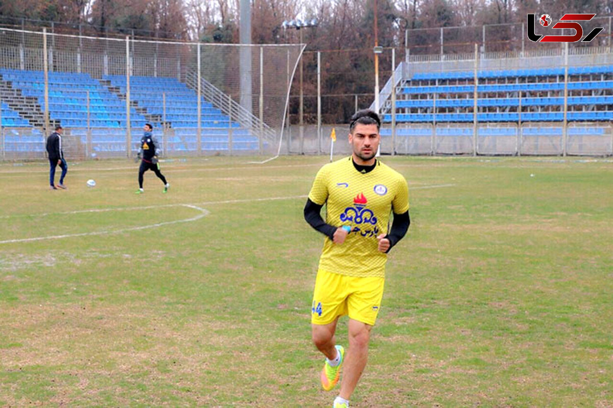
[[[341,365],[345,367],[334,408],[349,407],[362,376],[370,331],[381,308],[387,252],[410,224],[405,178],[375,158],[380,127],[379,116],[371,110],[352,116],[352,155],[319,170],[304,209],[307,222],[326,235],[313,293],[311,334],[326,356],[320,376],[324,390],[335,387]],[[326,221],[320,214],[324,204]],[[349,316],[347,355],[334,335],[341,315]]]

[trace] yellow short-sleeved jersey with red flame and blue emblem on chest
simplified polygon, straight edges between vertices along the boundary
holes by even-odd
[[[326,237],[319,270],[383,278],[387,254],[379,252],[377,236],[389,233],[392,211],[409,210],[405,178],[378,160],[373,170],[360,173],[349,156],[319,170],[308,198],[326,204],[327,224],[351,228],[343,244]]]

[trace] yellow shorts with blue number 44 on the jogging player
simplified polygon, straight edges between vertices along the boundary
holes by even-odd
[[[375,325],[385,278],[356,278],[319,270],[315,279],[311,323],[327,325],[338,316]]]

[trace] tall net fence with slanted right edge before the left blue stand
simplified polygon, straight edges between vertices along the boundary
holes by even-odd
[[[302,49],[0,29],[0,101],[4,116],[17,112],[37,132],[61,124],[83,157],[134,154],[145,123],[166,154],[270,156]]]

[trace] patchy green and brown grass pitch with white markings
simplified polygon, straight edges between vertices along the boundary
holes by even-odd
[[[613,406],[613,162],[382,159],[412,222],[352,406]],[[326,162],[177,159],[143,195],[128,161],[69,162],[67,191],[0,164],[0,405],[330,406],[302,218]]]

